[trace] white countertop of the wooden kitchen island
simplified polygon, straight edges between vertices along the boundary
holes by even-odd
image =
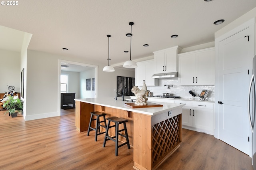
[[[146,108],[130,108],[124,105],[124,103],[131,103],[129,101],[115,100],[113,98],[88,98],[88,99],[74,99],[75,101],[90,103],[94,105],[106,106],[115,109],[121,109],[125,111],[131,111],[136,113],[142,113],[146,115],[159,115],[174,109],[182,108],[184,105],[176,103],[164,103],[164,102],[150,102],[163,105],[163,107],[146,107]]]

